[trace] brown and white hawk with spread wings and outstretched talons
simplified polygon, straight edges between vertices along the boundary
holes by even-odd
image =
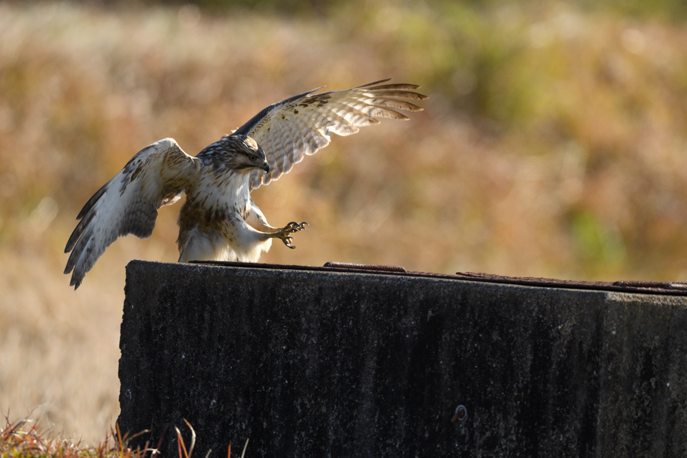
[[[65,253],[65,274],[74,289],[106,247],[119,236],[153,233],[157,209],[186,193],[179,213],[179,262],[219,260],[256,262],[273,238],[286,247],[306,223],[267,224],[251,191],[289,172],[306,154],[330,142],[330,134],[351,135],[379,118],[408,119],[398,110],[423,108],[416,84],[381,80],[343,91],[315,93],[322,87],[264,108],[230,135],[196,157],[166,138],[140,150],[113,179],[89,199],[76,217]],[[73,272],[72,272],[73,271]]]

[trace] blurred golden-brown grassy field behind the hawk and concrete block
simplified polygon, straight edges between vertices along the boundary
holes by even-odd
[[[196,154],[268,104],[382,78],[430,96],[254,192],[263,262],[687,280],[687,3],[0,3],[0,411],[116,420],[124,266],[177,260],[180,204],[75,293],[65,242],[138,150]],[[232,330],[227,330],[232,332]]]

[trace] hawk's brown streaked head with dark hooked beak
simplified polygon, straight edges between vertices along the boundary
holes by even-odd
[[[214,165],[224,165],[240,172],[261,169],[269,172],[269,163],[260,145],[247,135],[225,135],[208,146],[199,157],[210,157]]]

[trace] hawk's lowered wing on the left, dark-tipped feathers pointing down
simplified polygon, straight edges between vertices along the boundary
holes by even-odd
[[[174,139],[166,138],[137,152],[113,179],[84,205],[65,253],[71,251],[65,273],[78,288],[95,261],[119,236],[153,233],[157,209],[176,202],[196,180],[201,161],[189,156]]]

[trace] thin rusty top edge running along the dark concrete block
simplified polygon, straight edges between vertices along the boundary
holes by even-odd
[[[133,260],[129,264],[169,264],[177,263]],[[462,282],[486,282],[491,284],[510,284],[539,288],[575,289],[605,291],[612,293],[633,293],[641,295],[687,296],[687,283],[684,282],[587,282],[537,277],[506,277],[486,273],[458,272],[455,275],[444,273],[410,272],[399,266],[379,266],[376,264],[327,263],[324,266],[298,266],[290,264],[265,264],[254,262],[192,261],[190,265],[228,268],[251,268],[267,270],[289,270],[322,273],[359,273],[363,275],[395,275],[428,279],[449,279]]]

